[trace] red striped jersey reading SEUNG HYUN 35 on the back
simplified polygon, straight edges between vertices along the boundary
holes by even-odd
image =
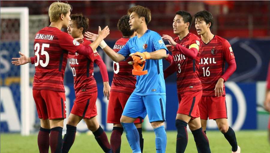
[[[35,35],[35,76],[33,90],[65,92],[63,79],[68,52],[75,53],[80,44],[55,27],[45,27]]]

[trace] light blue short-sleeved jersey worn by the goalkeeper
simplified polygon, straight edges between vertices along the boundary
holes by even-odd
[[[165,49],[167,54],[169,53],[161,36],[157,32],[147,30],[141,38],[138,38],[138,36],[130,38],[118,54],[125,56],[127,59],[131,53],[154,52],[159,49]],[[143,70],[148,70],[148,73],[136,76],[137,82],[133,94],[140,96],[166,95],[162,59],[146,60]]]

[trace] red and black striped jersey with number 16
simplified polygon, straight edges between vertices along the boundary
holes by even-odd
[[[199,74],[202,82],[202,96],[215,96],[214,89],[218,79],[224,73],[225,61],[228,62],[235,57],[229,42],[217,35],[207,44],[202,39],[200,42]],[[225,84],[223,96],[225,96]]]

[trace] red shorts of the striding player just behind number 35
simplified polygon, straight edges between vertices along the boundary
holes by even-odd
[[[98,115],[96,106],[97,98],[98,92],[76,96],[74,105],[70,113],[88,119],[97,116]]]

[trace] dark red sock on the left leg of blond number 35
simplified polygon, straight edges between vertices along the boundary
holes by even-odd
[[[38,149],[40,153],[49,152],[49,135],[50,129],[40,127],[38,132]]]

